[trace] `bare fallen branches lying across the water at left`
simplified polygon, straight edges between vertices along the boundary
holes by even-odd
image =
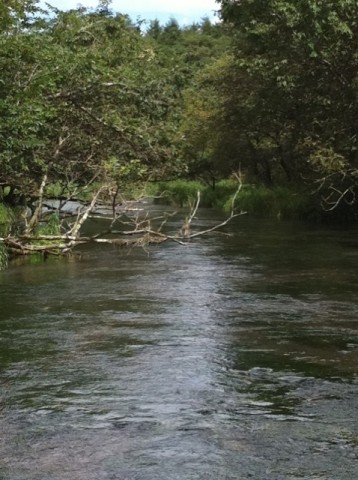
[[[126,204],[121,198],[120,205],[117,205],[115,200],[118,197],[118,191],[116,190],[115,195],[113,195],[113,186],[102,186],[93,195],[89,204],[79,205],[77,214],[72,215],[72,223],[67,223],[66,226],[64,223],[62,224],[63,233],[61,232],[58,235],[41,235],[36,233],[36,226],[43,221],[44,217],[43,205],[46,181],[47,177],[44,176],[39,189],[37,208],[29,220],[25,219],[23,231],[18,235],[9,234],[0,238],[0,243],[4,244],[12,255],[31,255],[34,253],[40,253],[44,256],[69,255],[76,247],[88,243],[108,244],[118,247],[146,247],[151,244],[172,241],[185,245],[194,238],[219,230],[233,218],[245,213],[236,213],[234,209],[235,199],[241,190],[241,181],[238,177],[238,189],[232,199],[231,212],[223,222],[201,231],[192,231],[192,224],[200,206],[200,192],[198,192],[195,205],[193,205],[189,215],[183,222],[181,230],[174,234],[168,234],[164,231],[164,227],[173,213],[165,213],[160,217],[151,218],[149,213],[145,213],[144,209],[133,212],[133,202]],[[97,217],[96,208],[98,204],[101,208],[104,205],[103,198],[101,198],[103,195],[107,195],[107,198],[110,198],[107,207],[111,215],[100,215]],[[60,213],[63,205],[61,203]],[[82,227],[86,220],[91,217],[107,219],[109,226],[95,235],[84,236],[81,234]],[[159,226],[155,226],[158,223]],[[118,229],[119,226],[121,227],[120,229]]]

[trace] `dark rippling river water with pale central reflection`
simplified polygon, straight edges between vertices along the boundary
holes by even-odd
[[[358,478],[358,232],[228,231],[0,273],[0,479]]]

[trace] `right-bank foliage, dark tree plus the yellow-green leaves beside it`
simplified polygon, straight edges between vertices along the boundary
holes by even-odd
[[[232,49],[185,94],[190,171],[357,193],[357,2],[218,3]]]

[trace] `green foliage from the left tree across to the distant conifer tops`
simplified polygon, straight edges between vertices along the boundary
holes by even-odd
[[[183,90],[228,36],[208,19],[152,22],[146,35],[109,2],[63,12],[36,1],[0,7],[0,182],[32,201],[94,178],[183,175]]]

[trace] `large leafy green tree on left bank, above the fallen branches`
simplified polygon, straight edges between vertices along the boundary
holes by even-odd
[[[170,170],[172,89],[154,51],[125,16],[53,14],[0,36],[0,182],[33,195],[45,174],[108,177],[113,158]]]

